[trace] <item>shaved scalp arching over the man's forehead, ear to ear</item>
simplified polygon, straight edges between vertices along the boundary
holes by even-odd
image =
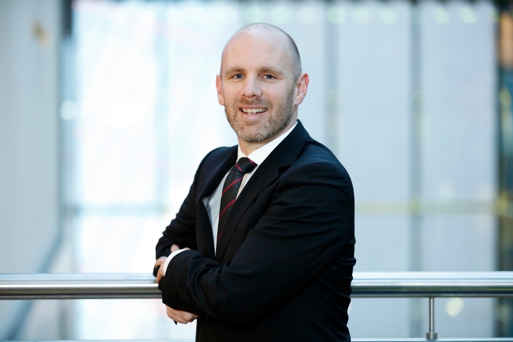
[[[223,49],[223,55],[225,53],[226,47],[228,44],[235,38],[239,37],[240,35],[269,35],[269,36],[275,36],[280,37],[283,39],[283,42],[287,45],[287,50],[290,55],[290,59],[293,66],[293,77],[294,81],[297,81],[299,76],[301,75],[302,69],[301,69],[301,57],[299,55],[298,46],[295,45],[294,39],[290,35],[288,35],[287,32],[283,31],[279,27],[276,27],[271,24],[265,24],[265,23],[256,23],[256,24],[250,24],[248,26],[243,27],[242,29],[235,32],[228,43],[226,43],[225,48]],[[223,69],[223,61],[221,60],[221,70]]]

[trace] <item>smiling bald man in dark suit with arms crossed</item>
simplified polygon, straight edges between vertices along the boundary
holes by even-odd
[[[277,27],[226,44],[216,86],[239,146],[205,156],[156,246],[167,314],[197,318],[196,341],[350,340],[353,190],[297,120],[308,83]]]

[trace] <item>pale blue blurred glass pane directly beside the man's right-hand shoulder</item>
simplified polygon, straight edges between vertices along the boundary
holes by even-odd
[[[411,134],[409,4],[341,2],[338,11],[339,159],[357,200],[405,200]]]

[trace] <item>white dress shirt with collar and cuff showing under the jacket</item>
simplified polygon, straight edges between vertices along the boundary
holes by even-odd
[[[288,129],[285,133],[280,135],[279,137],[271,140],[269,143],[265,144],[264,146],[259,147],[258,149],[251,152],[249,155],[245,155],[241,151],[241,147],[238,147],[237,152],[237,160],[239,160],[242,157],[248,157],[251,159],[257,166],[253,169],[253,171],[246,173],[244,177],[242,178],[241,187],[239,188],[239,192],[237,193],[237,197],[241,194],[242,189],[244,189],[244,186],[249,182],[249,178],[253,175],[255,171],[257,171],[260,164],[262,164],[271,154],[271,152],[287,137],[287,135],[292,132],[292,130],[295,128],[295,126],[298,123],[296,122],[294,126],[292,126],[290,129]],[[230,168],[231,170],[231,168]],[[218,187],[215,189],[215,191],[210,195],[202,198],[203,204],[205,205],[205,208],[207,209],[208,218],[210,219],[210,224],[212,225],[212,236],[214,238],[214,251],[217,245],[217,239],[218,239],[218,225],[219,225],[219,208],[221,206],[221,194],[223,193],[223,185],[225,182],[226,177],[228,176],[228,173],[230,173],[230,170],[226,172],[223,179],[221,179],[221,182],[219,183]],[[179,249],[177,251],[174,251],[171,253],[168,258],[166,259],[166,262],[164,263],[164,274],[166,274],[167,266],[169,265],[169,261],[178,253],[181,253],[185,251],[185,249]]]

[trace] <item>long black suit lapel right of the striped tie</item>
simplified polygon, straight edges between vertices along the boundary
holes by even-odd
[[[279,169],[292,165],[298,159],[299,153],[303,149],[306,141],[310,136],[305,130],[301,122],[298,120],[298,125],[290,132],[290,134],[281,142],[264,160],[262,165],[249,179],[249,182],[244,186],[239,198],[233,204],[233,208],[228,217],[230,222],[229,231],[223,231],[223,235],[219,239],[216,247],[216,260],[222,263],[226,248],[230,242],[231,235],[239,224],[242,215],[246,212],[257,195],[274,179],[278,178]],[[226,173],[226,172],[225,172]],[[210,234],[211,235],[211,234]]]

